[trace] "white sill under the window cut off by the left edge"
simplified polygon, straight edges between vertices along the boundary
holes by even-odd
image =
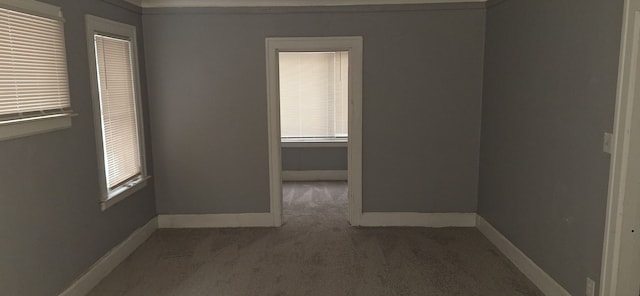
[[[0,122],[0,141],[53,132],[71,127],[75,114],[57,114]]]

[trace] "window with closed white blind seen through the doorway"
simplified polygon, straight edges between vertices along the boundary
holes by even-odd
[[[283,140],[347,137],[348,54],[279,53]]]

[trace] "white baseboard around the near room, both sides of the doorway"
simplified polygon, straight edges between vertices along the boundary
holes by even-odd
[[[477,227],[545,295],[571,296],[527,255],[476,213],[363,213],[360,226]],[[157,228],[272,227],[271,213],[159,215],[94,263],[60,296],[86,295],[122,261],[144,243]]]

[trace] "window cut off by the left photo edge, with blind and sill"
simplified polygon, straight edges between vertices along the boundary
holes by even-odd
[[[0,0],[0,139],[71,126],[60,8]]]

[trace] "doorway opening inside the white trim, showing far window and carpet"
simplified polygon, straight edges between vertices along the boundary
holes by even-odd
[[[349,52],[281,51],[278,72],[283,218],[344,221]]]

